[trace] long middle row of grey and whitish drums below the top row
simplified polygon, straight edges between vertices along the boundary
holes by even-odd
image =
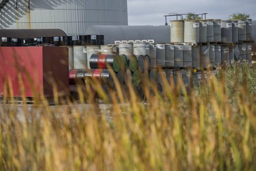
[[[69,69],[101,69],[110,63],[115,71],[128,65],[132,71],[144,70],[144,61],[150,62],[150,68],[157,67],[193,67],[196,69],[215,67],[231,60],[251,62],[251,44],[201,45],[192,44],[148,44],[124,43],[104,46],[71,46],[69,48]],[[124,66],[120,66],[119,56]],[[99,63],[98,63],[99,61]],[[139,66],[139,67],[138,67]]]

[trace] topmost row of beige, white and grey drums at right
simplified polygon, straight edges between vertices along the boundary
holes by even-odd
[[[170,42],[252,41],[252,19],[173,20]]]

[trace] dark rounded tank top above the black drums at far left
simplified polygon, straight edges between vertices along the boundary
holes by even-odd
[[[61,29],[0,29],[0,37],[35,38],[67,36]]]

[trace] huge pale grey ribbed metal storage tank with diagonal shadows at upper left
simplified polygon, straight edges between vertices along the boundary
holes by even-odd
[[[85,34],[92,25],[127,25],[127,0],[10,0],[0,11],[0,29],[56,28]],[[30,17],[29,17],[30,14]]]

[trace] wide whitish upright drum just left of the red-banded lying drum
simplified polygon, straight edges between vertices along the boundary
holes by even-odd
[[[86,46],[74,46],[74,69],[87,69]]]

